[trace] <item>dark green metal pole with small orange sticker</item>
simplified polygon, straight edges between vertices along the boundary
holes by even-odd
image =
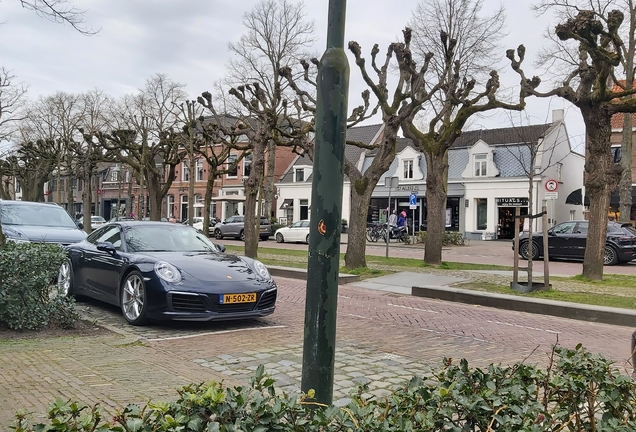
[[[313,393],[316,402],[327,405],[331,405],[333,398],[349,91],[349,63],[344,52],[345,11],[346,0],[329,1],[327,50],[318,70],[301,382],[303,392]]]

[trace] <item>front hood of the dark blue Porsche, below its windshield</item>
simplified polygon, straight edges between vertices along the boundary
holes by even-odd
[[[249,258],[212,252],[149,252],[157,260],[176,266],[186,278],[192,277],[202,284],[211,282],[260,281]]]

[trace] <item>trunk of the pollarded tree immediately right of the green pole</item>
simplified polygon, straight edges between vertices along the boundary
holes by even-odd
[[[348,269],[366,267],[365,257],[367,245],[367,213],[371,194],[378,179],[368,177],[351,179],[351,192],[349,202],[351,211],[349,212],[349,233],[347,240],[347,252],[345,253],[345,265]]]

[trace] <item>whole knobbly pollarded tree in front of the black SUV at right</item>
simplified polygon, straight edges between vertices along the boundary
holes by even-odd
[[[636,89],[614,91],[610,83],[618,81],[614,70],[623,57],[624,42],[619,34],[623,21],[624,14],[619,10],[578,10],[576,16],[557,25],[555,34],[560,40],[578,45],[578,62],[569,68],[561,85],[546,92],[537,90],[541,80],[527,79],[514,52],[508,51],[513,67],[522,75],[525,92],[538,97],[559,96],[581,110],[587,138],[585,192],[590,200],[583,276],[593,280],[603,277],[607,209],[623,171],[611,156],[611,118],[617,113],[636,112],[636,99],[623,99],[636,93]]]

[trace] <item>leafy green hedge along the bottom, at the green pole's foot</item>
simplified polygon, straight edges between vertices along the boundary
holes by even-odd
[[[611,362],[555,348],[547,368],[518,363],[470,368],[466,360],[413,378],[382,398],[361,387],[346,407],[279,394],[261,366],[251,385],[190,385],[171,403],[129,405],[105,419],[99,406],[57,400],[46,424],[17,416],[12,430],[34,431],[498,431],[636,430],[636,385]],[[311,396],[311,390],[309,392]]]

